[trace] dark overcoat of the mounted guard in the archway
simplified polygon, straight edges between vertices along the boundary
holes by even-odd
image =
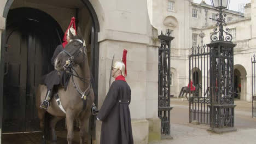
[[[51,64],[54,65],[55,58],[57,57],[57,55],[59,55],[59,53],[62,50],[63,50],[62,45],[58,45],[56,47],[54,51],[54,55],[53,57],[51,57]],[[58,72],[60,73],[60,75],[58,75]],[[46,85],[48,91],[53,89],[54,85],[60,85],[60,84],[66,89],[69,77],[70,75],[66,74],[65,71],[53,70],[47,75],[43,76],[43,84]]]

